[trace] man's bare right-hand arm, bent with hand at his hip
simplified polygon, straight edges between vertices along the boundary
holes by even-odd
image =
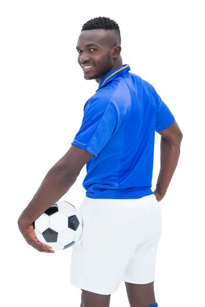
[[[176,121],[168,128],[159,132],[160,144],[160,171],[154,194],[157,201],[165,196],[170,181],[178,164],[182,133]]]

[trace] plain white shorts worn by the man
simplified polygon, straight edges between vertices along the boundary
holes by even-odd
[[[154,194],[140,199],[90,199],[79,207],[83,231],[72,247],[70,282],[112,294],[121,281],[154,281],[161,208]]]

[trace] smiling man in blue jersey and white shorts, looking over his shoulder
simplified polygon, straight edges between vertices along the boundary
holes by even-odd
[[[129,72],[120,56],[114,20],[89,20],[77,42],[86,80],[99,84],[84,106],[72,145],[47,173],[18,219],[27,243],[38,242],[32,222],[56,203],[87,164],[84,227],[72,249],[71,283],[82,290],[81,307],[108,307],[125,281],[131,307],[156,307],[154,274],[161,233],[160,200],[178,163],[182,133],[154,87]],[[151,190],[154,136],[161,135],[161,166]]]

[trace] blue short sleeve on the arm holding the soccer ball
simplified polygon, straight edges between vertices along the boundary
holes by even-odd
[[[125,106],[112,100],[91,98],[84,107],[84,118],[72,145],[92,153],[94,157],[115,134],[126,114]]]

